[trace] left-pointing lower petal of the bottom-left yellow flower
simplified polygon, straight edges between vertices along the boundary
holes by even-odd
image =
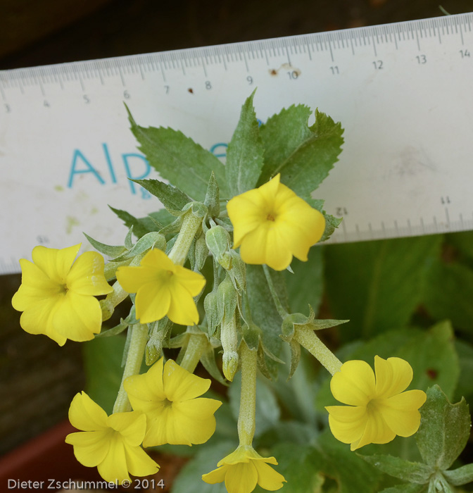
[[[110,448],[111,430],[75,432],[65,437],[74,446],[74,455],[82,466],[93,468],[106,458]]]

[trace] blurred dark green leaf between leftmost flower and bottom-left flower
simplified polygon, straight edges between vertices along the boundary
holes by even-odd
[[[107,414],[111,414],[122,381],[125,337],[105,337],[83,343],[85,392]]]

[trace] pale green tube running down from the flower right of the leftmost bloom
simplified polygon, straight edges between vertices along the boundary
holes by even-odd
[[[118,396],[113,406],[113,413],[126,413],[132,408],[128,400],[128,394],[123,388],[123,382],[128,377],[139,373],[141,362],[143,361],[144,348],[146,347],[146,342],[148,342],[148,327],[146,325],[137,323],[136,325],[132,325],[128,330],[132,331],[132,337],[125,369],[123,370],[122,382],[120,383],[120,390],[118,390]]]

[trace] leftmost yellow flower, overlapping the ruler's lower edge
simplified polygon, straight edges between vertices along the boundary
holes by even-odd
[[[61,250],[35,246],[33,261],[20,260],[21,286],[13,308],[23,311],[20,325],[63,346],[67,339],[89,341],[100,332],[100,294],[113,288],[103,276],[103,257],[86,251],[74,261],[80,244]]]

